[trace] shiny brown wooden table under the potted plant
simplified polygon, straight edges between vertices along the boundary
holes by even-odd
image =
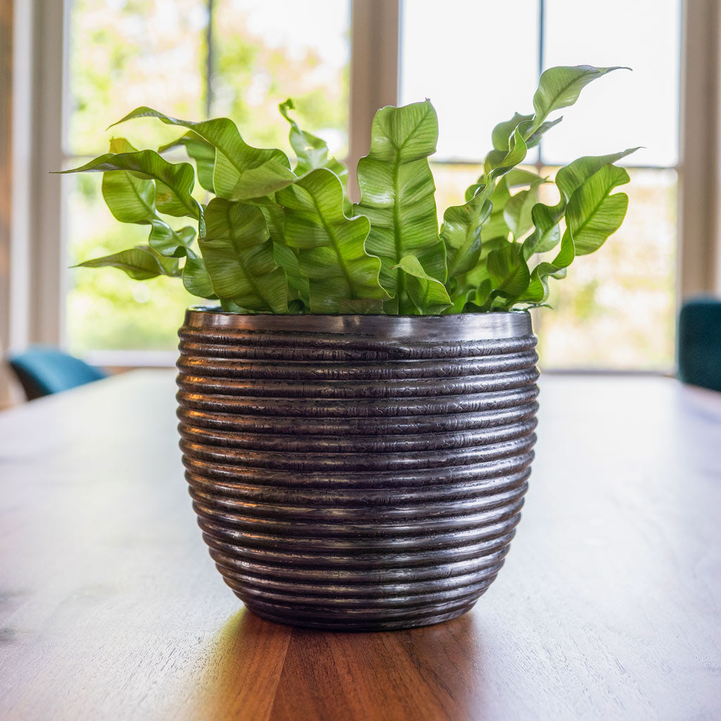
[[[174,374],[0,414],[0,719],[721,717],[721,394],[549,376],[475,609],[408,632],[242,609],[182,479]]]

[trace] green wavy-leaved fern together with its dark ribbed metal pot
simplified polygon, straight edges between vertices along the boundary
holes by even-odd
[[[519,167],[590,81],[551,68],[534,112],[492,133],[482,175],[438,228],[438,123],[428,100],[384,107],[358,164],[361,200],[320,138],[297,156],[247,145],[227,118],[159,149],[123,138],[68,172],[146,245],[88,260],[182,279],[212,306],[180,329],[180,435],[203,537],[252,611],[327,629],[396,629],[459,616],[503,565],[528,485],[536,339],[528,308],[624,218],[632,151],[585,156],[549,184]],[[194,164],[169,162],[182,146]],[[200,192],[195,181],[200,185]],[[190,218],[177,227],[173,218]],[[197,236],[197,241],[196,241]]]

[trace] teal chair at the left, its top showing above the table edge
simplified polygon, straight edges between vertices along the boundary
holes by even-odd
[[[8,358],[29,401],[105,378],[105,373],[73,355],[46,345],[31,345]]]

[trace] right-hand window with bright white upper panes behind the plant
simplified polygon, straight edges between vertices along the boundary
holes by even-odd
[[[563,112],[562,126],[528,156],[552,176],[580,155],[646,146],[624,161],[631,175],[622,188],[630,198],[624,225],[601,252],[578,258],[567,278],[552,285],[554,310],[534,311],[534,322],[545,368],[671,368],[678,0],[607,0],[592,24],[588,6],[577,0],[446,0],[443,14],[430,24],[434,5],[404,2],[400,97],[412,102],[428,96],[438,110],[434,174],[441,208],[458,204],[480,174],[493,125],[516,110],[531,112],[539,69],[580,63],[633,68],[585,89],[577,105]],[[506,32],[484,28],[512,28],[513,50]],[[434,53],[428,53],[430,46]],[[518,107],[519,100],[528,106]]]

